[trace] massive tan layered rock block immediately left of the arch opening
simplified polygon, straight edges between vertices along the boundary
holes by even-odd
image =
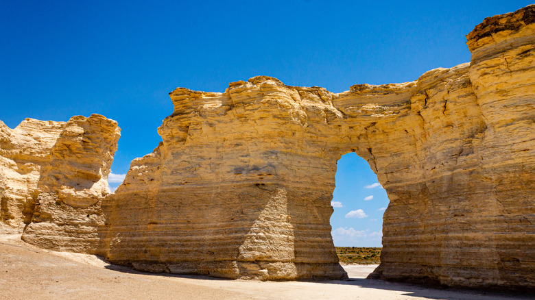
[[[324,127],[341,114],[318,92],[332,96],[271,77],[172,92],[163,142],[106,204],[108,259],[230,278],[345,277],[329,225],[339,154]]]

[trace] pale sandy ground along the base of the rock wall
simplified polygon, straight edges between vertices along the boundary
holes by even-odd
[[[366,279],[377,265],[344,266],[349,280],[258,282],[159,275],[94,255],[47,251],[0,235],[0,299],[533,299]]]

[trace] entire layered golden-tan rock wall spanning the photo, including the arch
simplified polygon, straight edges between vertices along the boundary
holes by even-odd
[[[534,288],[535,5],[467,39],[470,63],[404,84],[177,88],[163,142],[104,200],[113,121],[0,124],[2,218],[31,218],[23,238],[41,247],[143,271],[344,278],[330,201],[336,162],[353,151],[390,199],[371,277]],[[25,126],[47,134],[17,135]]]

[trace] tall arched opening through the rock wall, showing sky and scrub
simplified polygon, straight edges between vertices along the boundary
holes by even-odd
[[[340,264],[379,264],[383,213],[389,203],[370,164],[355,152],[342,155],[337,161],[330,220]]]

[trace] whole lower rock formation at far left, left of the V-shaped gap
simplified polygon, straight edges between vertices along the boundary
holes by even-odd
[[[4,224],[24,229],[23,240],[40,247],[95,253],[117,122],[93,114],[0,128]]]

